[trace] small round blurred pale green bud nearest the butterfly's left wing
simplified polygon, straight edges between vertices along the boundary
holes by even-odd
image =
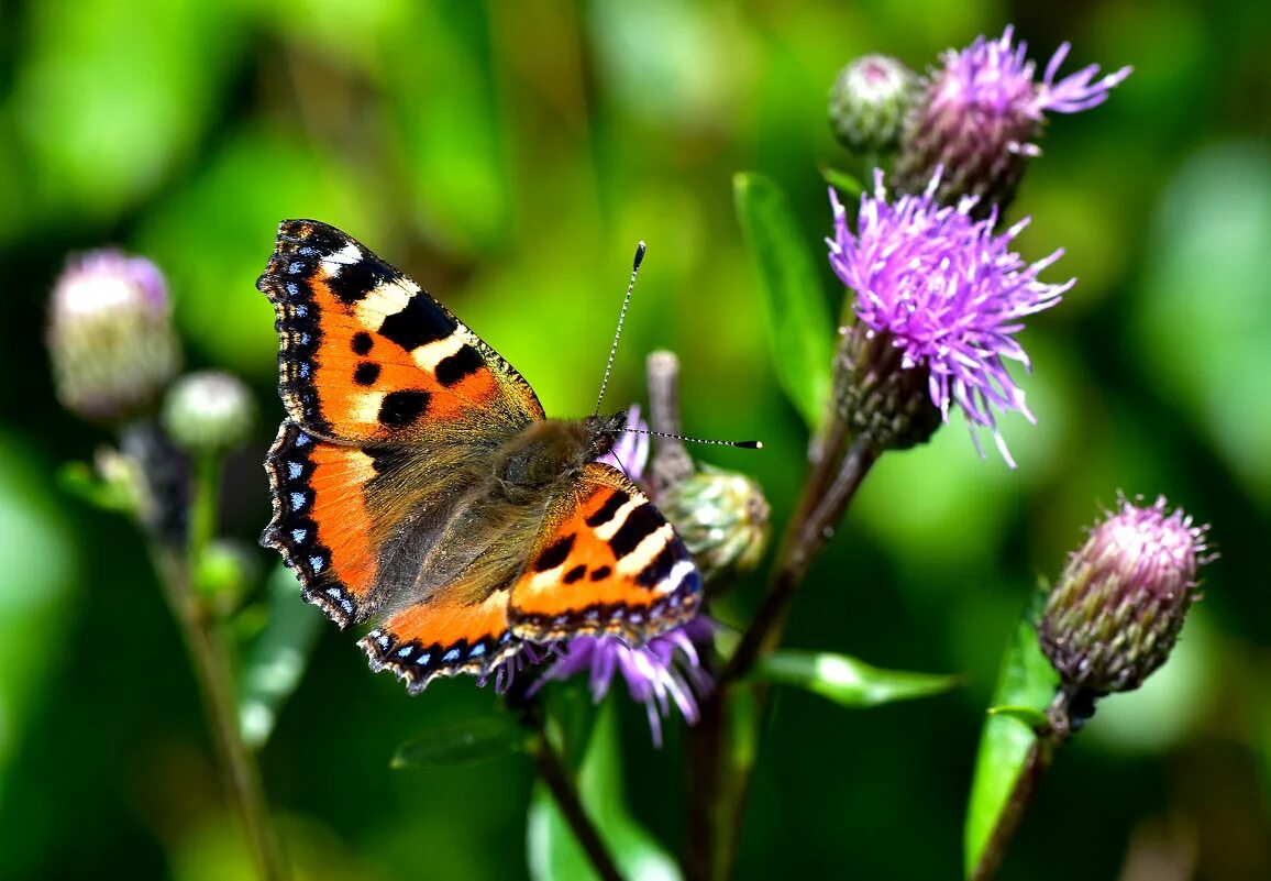
[[[194,455],[219,455],[248,439],[255,407],[241,380],[219,370],[189,374],[168,392],[163,426],[177,446]]]

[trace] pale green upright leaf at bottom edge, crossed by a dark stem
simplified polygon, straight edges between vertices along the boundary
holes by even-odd
[[[622,782],[622,750],[613,702],[597,714],[587,755],[578,769],[578,797],[600,831],[619,871],[628,878],[675,881],[679,864],[652,834],[627,812]],[[535,784],[527,819],[529,868],[534,881],[576,881],[597,877],[591,861],[557,810],[552,795]]]

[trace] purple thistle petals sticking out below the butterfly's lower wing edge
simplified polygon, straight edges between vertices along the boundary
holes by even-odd
[[[644,704],[653,744],[662,745],[662,720],[671,704],[690,723],[698,721],[698,698],[710,692],[710,676],[702,669],[697,643],[709,639],[714,625],[698,617],[644,646],[632,648],[616,637],[577,637],[558,647],[558,659],[548,667],[530,693],[552,679],[586,674],[591,698],[600,703],[622,674],[632,699]]]

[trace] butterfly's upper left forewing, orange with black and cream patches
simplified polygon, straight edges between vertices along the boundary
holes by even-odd
[[[313,434],[427,441],[543,418],[507,361],[333,226],[285,220],[257,286],[275,304],[282,400]]]

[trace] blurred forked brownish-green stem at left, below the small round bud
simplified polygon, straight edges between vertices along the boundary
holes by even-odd
[[[239,728],[230,657],[216,618],[202,603],[194,585],[194,567],[216,525],[220,474],[219,464],[211,459],[198,463],[197,468],[187,547],[173,547],[151,538],[151,556],[186,642],[225,783],[247,833],[257,870],[264,881],[282,881],[287,877],[282,852],[269,825],[255,759],[243,742]]]

